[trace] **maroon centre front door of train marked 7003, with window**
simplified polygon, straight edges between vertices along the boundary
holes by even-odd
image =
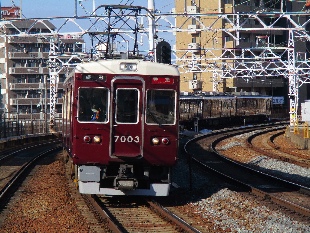
[[[110,157],[143,156],[144,80],[119,76],[111,83]]]

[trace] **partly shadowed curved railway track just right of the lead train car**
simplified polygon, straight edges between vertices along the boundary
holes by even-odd
[[[272,126],[264,126],[270,128]],[[263,129],[257,127],[256,129]],[[216,145],[229,137],[251,132],[254,127],[245,127],[214,132],[188,141],[184,150],[193,161],[203,169],[222,176],[236,185],[242,186],[255,194],[270,199],[303,215],[310,216],[310,189],[286,180],[255,171],[239,162],[225,158],[216,150]],[[210,150],[209,150],[210,147]],[[246,174],[246,175],[245,175]]]

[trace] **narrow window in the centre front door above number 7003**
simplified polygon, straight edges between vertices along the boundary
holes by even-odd
[[[139,90],[118,88],[116,90],[116,122],[138,123]]]

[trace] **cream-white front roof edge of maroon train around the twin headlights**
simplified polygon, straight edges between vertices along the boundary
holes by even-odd
[[[122,71],[120,64],[136,63],[138,68],[136,71]],[[179,76],[177,68],[171,65],[149,62],[144,60],[98,60],[92,62],[82,62],[78,64],[75,73],[108,73],[108,74],[130,74],[130,75],[174,75]]]

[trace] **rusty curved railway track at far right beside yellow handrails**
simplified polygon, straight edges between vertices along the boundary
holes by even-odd
[[[251,135],[246,139],[246,145],[268,157],[277,158],[285,162],[290,162],[293,164],[297,164],[303,167],[310,167],[310,156],[304,155],[302,153],[297,153],[294,151],[290,151],[285,148],[281,148],[273,143],[273,140],[279,136],[284,134],[285,131],[281,130],[280,132],[274,134],[274,130],[266,130],[263,132],[258,132],[254,135]],[[270,134],[271,136],[266,139],[266,134]],[[262,145],[261,142],[264,142]]]

